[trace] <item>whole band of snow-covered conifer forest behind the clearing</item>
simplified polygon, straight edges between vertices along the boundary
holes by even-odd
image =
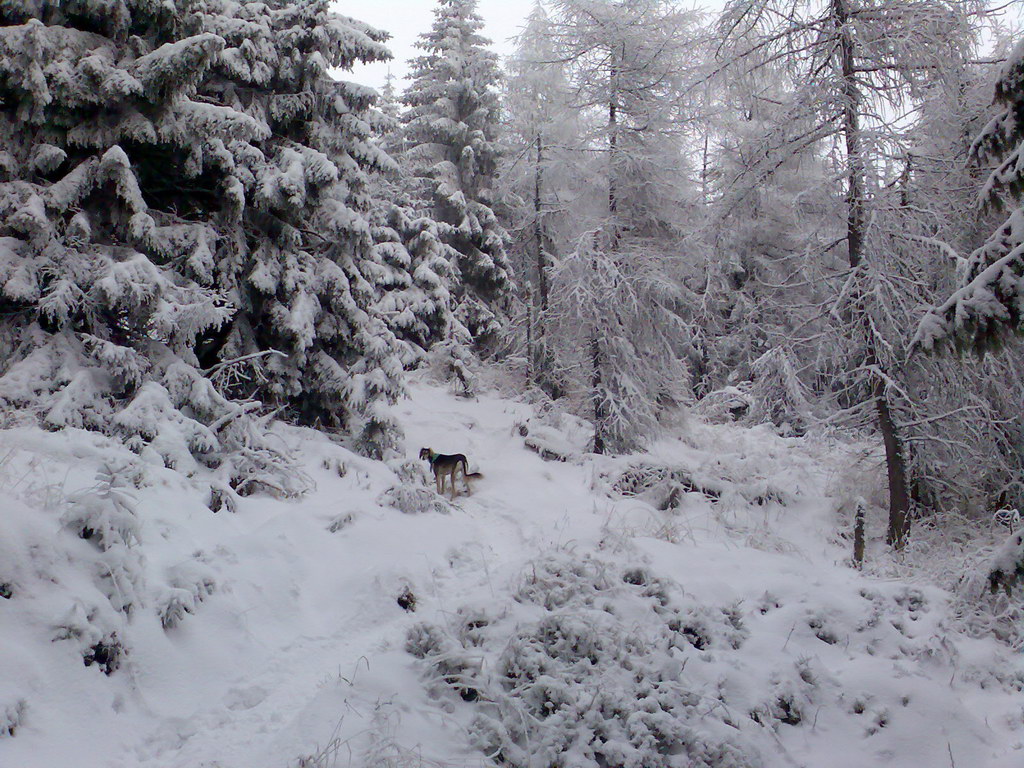
[[[217,503],[268,436],[387,457],[480,360],[642,447],[680,407],[870,435],[889,543],[1024,504],[1024,43],[986,0],[438,0],[401,92],[331,4],[0,5],[0,403]],[[973,350],[975,356],[959,356]]]

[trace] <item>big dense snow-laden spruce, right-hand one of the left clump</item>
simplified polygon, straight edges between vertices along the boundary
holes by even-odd
[[[375,307],[386,270],[368,174],[391,163],[372,140],[374,92],[329,70],[388,57],[386,35],[330,12],[327,0],[208,7],[204,27],[227,47],[203,92],[267,133],[252,147],[261,157],[249,147],[234,155],[248,205],[223,280],[241,311],[219,356],[284,351],[265,358],[260,391],[298,421],[347,430],[380,456],[397,435],[384,406],[399,391],[400,361]]]

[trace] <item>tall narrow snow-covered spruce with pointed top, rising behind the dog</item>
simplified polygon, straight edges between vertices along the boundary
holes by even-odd
[[[499,120],[498,57],[486,49],[475,0],[438,0],[411,61],[402,100],[411,174],[454,264],[456,315],[486,344],[513,290],[507,234],[493,206]]]

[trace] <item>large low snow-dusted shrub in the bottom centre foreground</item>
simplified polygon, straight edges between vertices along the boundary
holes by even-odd
[[[476,705],[470,736],[498,765],[756,764],[742,727],[727,708],[709,711],[674,655],[717,646],[725,627],[737,630],[722,613],[694,615],[680,597],[642,568],[615,573],[555,555],[521,579],[511,626],[508,616],[465,609],[454,629],[415,627],[407,649],[427,664],[435,689]]]

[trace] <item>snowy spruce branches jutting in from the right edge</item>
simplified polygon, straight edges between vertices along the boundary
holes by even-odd
[[[921,322],[914,343],[926,350],[952,345],[985,352],[1008,335],[1024,333],[1024,41],[1014,48],[995,84],[999,113],[971,147],[979,164],[993,163],[983,204],[1011,213],[971,254],[963,285]]]

